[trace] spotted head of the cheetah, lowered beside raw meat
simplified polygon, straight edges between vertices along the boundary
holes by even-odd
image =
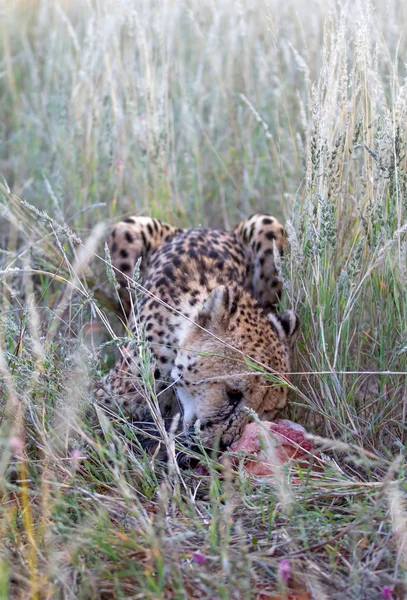
[[[298,330],[292,311],[266,315],[245,291],[219,286],[187,326],[172,370],[184,431],[221,448],[239,439],[250,420],[246,407],[273,419],[287,404],[280,378],[290,370]],[[274,374],[265,378],[258,367]]]

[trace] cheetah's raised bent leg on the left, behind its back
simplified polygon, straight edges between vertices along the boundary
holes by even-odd
[[[128,317],[131,311],[131,296],[128,278],[141,257],[141,275],[148,270],[151,256],[162,244],[170,242],[182,233],[182,229],[162,223],[152,217],[129,217],[113,229],[109,249],[117,280],[120,284],[120,299]]]

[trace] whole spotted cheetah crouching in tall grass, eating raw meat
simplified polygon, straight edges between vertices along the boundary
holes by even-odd
[[[282,283],[275,253],[286,245],[278,220],[259,214],[232,231],[180,229],[143,216],[112,231],[128,326],[149,345],[164,421],[178,413],[187,439],[198,433],[207,447],[227,448],[250,420],[245,407],[273,419],[286,406],[284,374],[299,327],[294,312],[276,312]],[[129,282],[139,259],[143,293],[135,302]],[[131,343],[98,400],[118,405],[147,431],[151,411],[140,368],[140,347]]]

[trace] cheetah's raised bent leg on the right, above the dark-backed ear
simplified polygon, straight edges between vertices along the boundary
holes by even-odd
[[[234,232],[248,253],[251,291],[266,311],[274,312],[282,292],[274,252],[281,255],[287,246],[284,227],[275,217],[253,215],[239,223]]]

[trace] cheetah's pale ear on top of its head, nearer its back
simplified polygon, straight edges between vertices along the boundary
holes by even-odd
[[[237,311],[239,299],[240,294],[234,287],[220,285],[215,288],[198,314],[198,325],[205,329],[211,325],[226,327]]]

